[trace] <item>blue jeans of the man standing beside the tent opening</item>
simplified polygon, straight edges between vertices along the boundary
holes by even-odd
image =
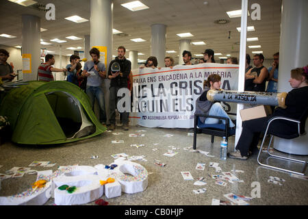
[[[94,111],[94,99],[99,103],[99,120],[101,123],[106,123],[105,99],[103,88],[87,86],[86,93],[89,96],[92,110]]]

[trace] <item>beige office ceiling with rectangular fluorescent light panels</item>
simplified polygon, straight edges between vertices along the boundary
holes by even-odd
[[[24,7],[7,0],[0,0],[0,34],[10,34],[16,38],[0,37],[0,44],[9,47],[21,45],[21,15],[34,14],[40,16],[41,27],[48,29],[41,33],[41,38],[50,42],[53,38],[67,40],[62,43],[62,54],[71,54],[72,50],[67,47],[83,47],[84,40],[68,40],[66,36],[78,36],[84,38],[90,34],[90,0],[36,0],[46,5],[55,4],[55,21],[47,21],[45,12],[40,12],[31,7]],[[103,1],[103,0],[102,0]],[[240,49],[240,33],[236,27],[240,27],[240,18],[229,18],[227,11],[240,10],[241,0],[140,0],[149,6],[147,10],[131,12],[121,6],[132,0],[114,0],[114,29],[129,34],[126,37],[114,35],[113,55],[116,55],[116,48],[124,45],[127,50],[138,51],[144,55],[138,55],[141,60],[146,60],[151,55],[151,25],[163,23],[167,25],[166,50],[175,50],[171,53],[176,57],[179,53],[179,36],[176,34],[190,32],[194,36],[188,39],[194,41],[205,41],[206,45],[191,45],[191,52],[200,54],[205,49],[214,49],[215,53],[222,53],[222,56],[231,54],[238,57]],[[204,2],[208,4],[205,5]],[[252,51],[263,51],[266,58],[272,58],[272,54],[279,51],[280,23],[281,23],[281,0],[251,0],[248,1],[248,10],[253,3],[261,5],[261,21],[252,21],[248,16],[248,26],[255,26],[255,31],[247,32],[247,37],[258,37],[257,42],[247,42],[248,45],[261,45],[261,49],[248,49]],[[67,16],[79,15],[88,19],[86,23],[73,23],[64,19]],[[227,19],[230,22],[225,25],[218,25],[214,21]],[[231,39],[228,38],[231,31]],[[143,38],[146,42],[133,42],[132,38]],[[51,46],[44,46],[50,51],[59,53],[59,44],[52,42]],[[82,50],[82,49],[81,49]],[[128,56],[128,54],[127,54]],[[216,57],[218,60],[218,57]]]

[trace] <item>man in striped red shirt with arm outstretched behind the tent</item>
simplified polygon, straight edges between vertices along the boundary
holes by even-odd
[[[55,57],[53,57],[51,54],[47,54],[45,56],[45,63],[42,63],[40,66],[38,66],[38,81],[54,81],[53,72],[66,72],[66,68],[53,68],[53,64],[55,64]]]

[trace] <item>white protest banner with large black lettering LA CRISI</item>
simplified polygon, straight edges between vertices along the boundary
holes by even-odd
[[[203,92],[203,81],[217,74],[221,77],[222,89],[238,90],[238,68],[235,64],[205,63],[134,70],[135,116],[131,118],[136,118],[137,124],[144,127],[192,128],[195,103]],[[236,112],[236,104],[231,105],[231,112]]]

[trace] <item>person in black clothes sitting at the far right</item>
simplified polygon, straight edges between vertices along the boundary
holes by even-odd
[[[308,70],[307,67],[291,70],[289,80],[293,90],[287,93],[285,109],[277,107],[271,116],[246,120],[243,123],[242,134],[235,149],[238,151],[229,153],[229,157],[235,159],[247,159],[253,152],[258,151],[257,145],[261,132],[266,131],[268,120],[274,116],[284,116],[299,120],[308,107]],[[296,133],[297,125],[287,120],[274,120],[268,129],[270,133]]]

